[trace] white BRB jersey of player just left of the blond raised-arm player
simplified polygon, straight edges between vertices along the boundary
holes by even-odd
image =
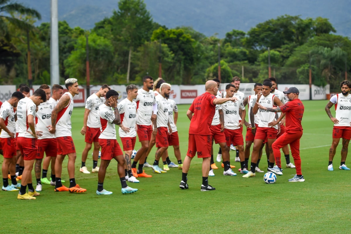
[[[51,102],[52,100],[54,100],[54,102]],[[38,139],[55,138],[55,134],[50,133],[47,128],[47,126],[51,125],[51,113],[56,106],[55,99],[52,100],[50,98],[38,106],[38,111],[35,115],[35,122],[37,123],[37,131],[42,132],[42,136],[38,136]]]

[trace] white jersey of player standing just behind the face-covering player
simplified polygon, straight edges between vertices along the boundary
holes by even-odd
[[[85,102],[85,109],[90,110],[88,114],[87,126],[90,128],[98,128],[99,124],[99,106],[105,102],[104,98],[99,98],[98,95],[93,93],[87,98]]]

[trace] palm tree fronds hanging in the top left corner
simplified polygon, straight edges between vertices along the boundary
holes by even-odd
[[[33,8],[25,7],[13,0],[0,0],[0,38],[5,38],[7,41],[11,39],[11,35],[8,33],[7,22],[26,31],[30,31],[33,28],[31,24],[12,17],[13,13],[32,16],[38,20],[41,19],[40,13]]]

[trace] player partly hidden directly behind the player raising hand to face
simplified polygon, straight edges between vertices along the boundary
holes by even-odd
[[[245,136],[245,149],[244,149],[244,154],[245,154],[245,165],[247,166],[249,164],[249,158],[250,158],[250,148],[253,143],[253,140],[255,138],[255,133],[256,133],[256,127],[258,126],[258,119],[257,119],[257,114],[254,115],[252,113],[252,107],[255,105],[256,100],[257,100],[257,94],[262,92],[262,84],[261,83],[255,83],[253,86],[253,91],[255,94],[247,96],[244,99],[244,106],[247,104],[247,112],[249,113],[249,123],[250,126],[246,128],[246,136]],[[261,160],[262,156],[262,147],[259,151],[259,157],[256,163],[256,172],[264,172],[259,168],[259,162]]]

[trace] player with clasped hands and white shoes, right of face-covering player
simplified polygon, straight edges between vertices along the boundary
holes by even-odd
[[[137,139],[137,131],[135,131],[137,121],[137,103],[133,99],[138,96],[138,87],[136,85],[128,85],[126,87],[127,98],[122,100],[118,105],[118,112],[121,117],[118,133],[121,138],[123,151],[125,152],[125,175],[129,182],[139,183],[139,180],[132,174],[131,156]]]

